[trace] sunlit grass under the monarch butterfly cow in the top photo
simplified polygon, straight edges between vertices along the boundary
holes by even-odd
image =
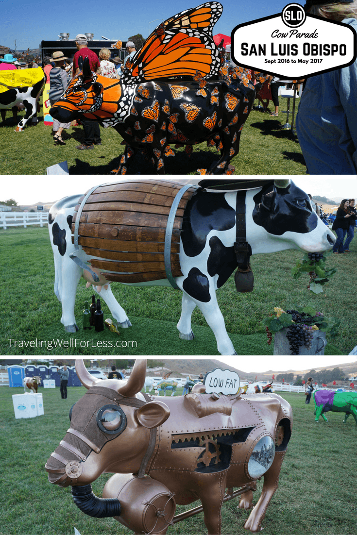
[[[280,101],[280,111],[286,110],[286,101]],[[83,141],[83,129],[79,126],[66,131],[71,139],[65,146],[55,146],[52,126],[43,124],[42,97],[40,104],[39,124],[26,127],[23,132],[14,131],[12,112],[6,112],[5,125],[0,125],[0,174],[46,174],[46,167],[63,161],[67,161],[70,174],[107,175],[117,169],[124,147],[120,144],[122,137],[113,128],[101,128],[103,144],[94,150],[75,148]],[[18,120],[23,115],[24,112],[19,113]],[[281,128],[285,122],[285,113],[272,118],[269,113],[252,110],[242,131],[239,155],[231,161],[236,174],[305,174],[299,143],[290,131]],[[206,143],[194,145],[191,157],[184,150],[175,149],[175,157],[165,158],[166,174],[198,174],[198,169],[208,169],[219,155]],[[136,155],[130,173],[154,174],[154,169],[143,155]]]

